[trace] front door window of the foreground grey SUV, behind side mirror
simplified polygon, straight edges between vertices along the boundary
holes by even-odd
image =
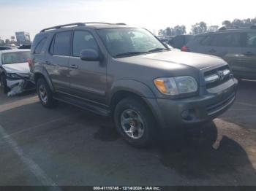
[[[78,57],[84,49],[98,50],[97,42],[88,31],[75,31],[72,55]]]

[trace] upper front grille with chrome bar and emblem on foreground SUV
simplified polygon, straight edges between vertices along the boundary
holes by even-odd
[[[227,82],[231,78],[231,73],[228,66],[222,66],[218,69],[206,71],[204,77],[206,89],[209,89]]]

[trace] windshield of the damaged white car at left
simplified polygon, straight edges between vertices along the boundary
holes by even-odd
[[[29,58],[28,52],[7,52],[1,55],[1,62],[3,64],[10,63],[25,63]]]

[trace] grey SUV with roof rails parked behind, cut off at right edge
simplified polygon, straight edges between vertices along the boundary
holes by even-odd
[[[195,36],[183,51],[217,55],[238,79],[256,79],[256,26],[209,32]]]

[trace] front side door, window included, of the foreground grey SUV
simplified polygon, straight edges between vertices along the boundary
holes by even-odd
[[[74,31],[72,56],[69,60],[72,95],[76,95],[86,101],[105,104],[106,63],[82,61],[80,52],[85,49],[93,49],[99,52],[99,46],[93,34],[89,31]]]

